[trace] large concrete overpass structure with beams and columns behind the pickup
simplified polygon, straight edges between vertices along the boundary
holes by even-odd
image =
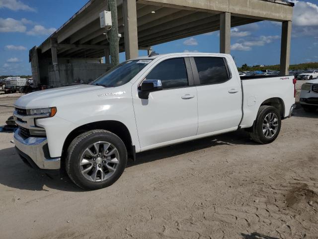
[[[293,6],[285,0],[117,0],[118,31],[122,34],[119,51],[126,49],[126,59],[130,59],[138,56],[139,49],[220,30],[220,52],[230,54],[231,27],[279,21],[283,23],[281,73],[288,74]],[[39,47],[30,50],[35,82],[47,78],[48,85],[64,85],[60,65],[70,62],[98,64],[105,56],[104,67],[96,74],[109,67],[109,43],[99,24],[103,10],[108,10],[107,0],[89,0]]]

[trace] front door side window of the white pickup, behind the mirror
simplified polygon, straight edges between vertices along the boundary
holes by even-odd
[[[147,80],[161,80],[163,89],[188,86],[184,58],[174,58],[159,63],[146,77]]]

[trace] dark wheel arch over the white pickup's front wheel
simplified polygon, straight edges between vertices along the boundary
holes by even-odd
[[[128,154],[135,156],[135,147],[132,145],[131,133],[124,123],[116,120],[90,122],[75,128],[66,137],[62,148],[61,169],[65,168],[66,152],[73,139],[79,136],[79,134],[93,129],[104,129],[116,134],[121,138],[121,140],[123,140]]]

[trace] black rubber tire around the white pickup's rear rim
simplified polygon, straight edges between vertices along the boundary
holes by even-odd
[[[270,113],[274,113],[277,116],[278,125],[277,125],[277,130],[275,134],[271,138],[267,138],[263,133],[263,122],[265,120],[265,117]],[[257,143],[262,143],[262,144],[271,143],[277,138],[280,132],[281,124],[282,124],[281,116],[279,114],[279,111],[275,107],[261,106],[258,110],[256,120],[252,126],[252,131],[249,133],[249,135]]]

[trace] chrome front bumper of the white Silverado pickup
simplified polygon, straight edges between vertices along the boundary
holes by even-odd
[[[60,169],[61,158],[50,158],[46,137],[23,138],[19,132],[19,128],[14,132],[15,147],[20,157],[29,162],[29,166],[35,169]]]

